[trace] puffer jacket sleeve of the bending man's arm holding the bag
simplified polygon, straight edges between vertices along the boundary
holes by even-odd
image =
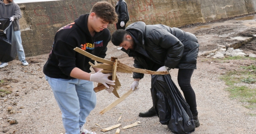
[[[164,66],[174,69],[183,55],[182,42],[169,32],[154,30],[150,34],[151,41],[167,50]]]

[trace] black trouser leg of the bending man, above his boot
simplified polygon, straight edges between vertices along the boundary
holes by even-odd
[[[196,95],[190,84],[193,72],[194,69],[179,69],[178,71],[178,84],[184,94],[186,102],[190,106],[192,114],[197,113]]]

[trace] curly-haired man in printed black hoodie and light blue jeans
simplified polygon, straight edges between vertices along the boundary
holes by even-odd
[[[108,80],[112,74],[103,74],[93,68],[90,74],[90,58],[74,51],[79,47],[88,53],[104,58],[110,41],[108,24],[117,22],[114,7],[105,1],[97,2],[90,14],[81,15],[73,23],[58,30],[44,74],[62,112],[66,134],[96,134],[84,129],[86,117],[96,105],[94,82],[102,83],[111,93],[115,81]]]

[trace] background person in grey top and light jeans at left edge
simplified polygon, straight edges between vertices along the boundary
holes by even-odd
[[[22,40],[20,36],[20,24],[19,19],[21,18],[21,11],[18,4],[14,3],[13,0],[0,0],[0,18],[10,18],[12,21],[13,39],[12,44],[16,45],[19,60],[22,65],[28,65],[25,59],[25,53],[22,46]],[[0,68],[7,66],[8,63],[2,62]]]

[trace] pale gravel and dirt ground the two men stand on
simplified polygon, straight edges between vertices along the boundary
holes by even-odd
[[[234,24],[234,20],[228,20],[227,22],[212,24],[213,27],[182,29],[196,34],[200,43],[200,52],[203,53],[203,51],[218,47],[217,43],[225,45],[228,41],[224,39],[228,39],[227,37],[230,35],[233,37],[240,32],[253,31],[256,27],[255,20],[251,22],[247,20],[236,21],[238,26],[229,25],[230,23]],[[228,32],[225,32],[225,26],[228,28],[228,30],[226,29]],[[233,30],[231,30],[232,26],[234,26]],[[211,30],[212,28],[214,30]],[[217,30],[219,32],[216,32]],[[215,32],[212,33],[212,31]],[[235,42],[235,40],[229,43],[232,42]],[[256,46],[255,41],[251,45]],[[109,55],[106,58],[108,59],[110,56],[118,57],[120,62],[132,66],[133,59],[127,57],[122,51],[116,50],[116,48],[110,44],[107,52]],[[255,54],[252,49],[247,51]],[[10,129],[7,132],[8,134],[12,134],[14,130],[16,130],[16,134],[60,134],[65,132],[62,126],[61,112],[42,73],[42,67],[47,57],[48,54],[28,57],[27,61],[30,65],[27,67],[23,67],[19,61],[14,60],[9,62],[7,67],[0,69],[0,79],[12,80],[9,85],[11,86],[10,90],[14,92],[8,96],[0,97],[0,134],[4,134],[2,132],[4,129]],[[251,64],[255,65],[255,61],[241,60],[221,63],[209,61],[205,57],[198,57],[198,69],[194,71],[191,84],[196,92],[198,117],[201,126],[196,128],[194,134],[256,133],[256,117],[250,115],[256,113],[256,111],[245,108],[238,100],[230,99],[228,97],[229,93],[224,90],[227,86],[224,81],[219,79],[223,72],[238,69],[241,65]],[[226,67],[226,69],[218,67]],[[171,70],[171,76],[176,85],[178,85],[177,72],[178,69]],[[122,85],[118,93],[122,95],[128,91],[133,79],[130,77],[131,74],[118,73],[117,75]],[[136,121],[141,121],[140,126],[121,130],[121,134],[170,134],[171,132],[167,126],[159,123],[158,117],[141,118],[138,116],[139,112],[146,111],[152,106],[150,79],[150,75],[145,75],[144,79],[140,81],[139,91],[133,93],[103,115],[100,115],[99,112],[117,98],[106,91],[98,92],[96,94],[96,108],[88,116],[85,127],[94,130],[97,134],[114,134],[116,129],[108,132],[101,132],[100,130],[118,123],[122,124],[120,127],[122,128]],[[6,89],[6,85],[0,87],[0,89]],[[14,114],[7,112],[7,108],[10,106],[13,108]],[[21,107],[22,109],[20,109]],[[122,116],[122,119],[117,122],[120,116]],[[15,118],[18,124],[10,125],[7,122],[8,118]],[[100,124],[100,126],[95,125],[95,123]]]

